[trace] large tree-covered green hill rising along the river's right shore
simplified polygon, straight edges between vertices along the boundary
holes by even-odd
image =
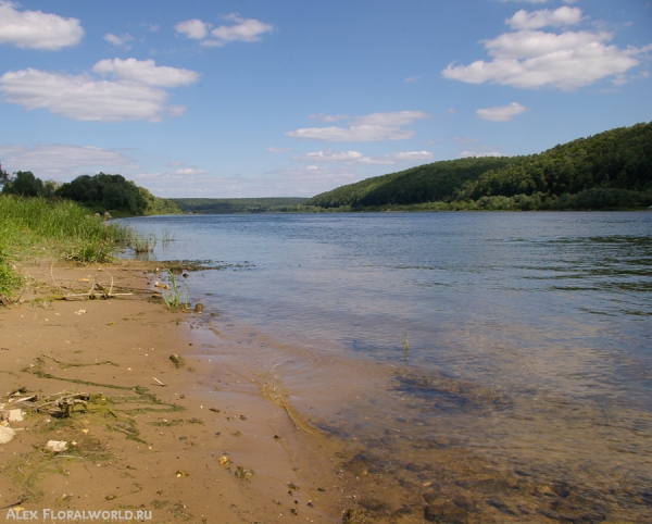
[[[652,123],[524,157],[421,165],[317,195],[306,210],[634,209],[652,204]]]

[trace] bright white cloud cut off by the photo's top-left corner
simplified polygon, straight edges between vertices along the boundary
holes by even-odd
[[[41,11],[17,11],[15,5],[0,1],[0,43],[57,51],[79,43],[84,36],[77,18]]]

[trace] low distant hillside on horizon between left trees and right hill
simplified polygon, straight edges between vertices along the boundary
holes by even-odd
[[[184,211],[192,213],[264,213],[277,208],[301,205],[306,198],[174,198]]]

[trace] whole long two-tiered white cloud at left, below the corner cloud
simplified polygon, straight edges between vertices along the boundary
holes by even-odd
[[[27,110],[47,109],[71,120],[159,122],[165,115],[179,116],[185,111],[180,105],[167,105],[170,95],[162,87],[187,85],[199,78],[191,71],[158,67],[151,60],[103,60],[93,71],[118,79],[27,68],[2,75],[0,92],[5,101]]]

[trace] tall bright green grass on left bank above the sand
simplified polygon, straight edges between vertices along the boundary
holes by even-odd
[[[77,262],[104,262],[129,232],[71,201],[0,196],[0,294],[20,285],[13,266],[36,253]]]

